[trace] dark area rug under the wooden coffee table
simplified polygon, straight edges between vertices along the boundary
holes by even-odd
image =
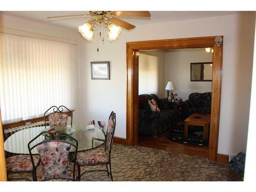
[[[170,131],[167,136],[168,139],[180,142],[183,144],[208,146],[209,140],[203,139],[203,127],[202,126],[191,126],[188,127],[187,137],[184,137],[184,125],[175,127],[174,130]]]

